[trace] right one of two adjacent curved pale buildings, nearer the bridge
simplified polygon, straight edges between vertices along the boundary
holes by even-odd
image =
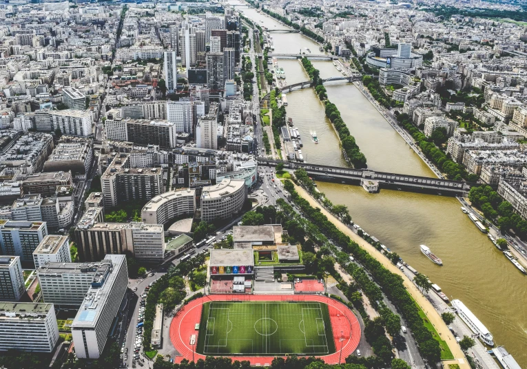
[[[247,188],[242,179],[224,179],[214,186],[203,188],[201,219],[211,222],[237,215],[247,198]]]

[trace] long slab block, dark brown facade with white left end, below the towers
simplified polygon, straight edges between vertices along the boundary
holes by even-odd
[[[109,141],[130,141],[136,145],[162,148],[175,148],[177,145],[176,125],[170,121],[114,117],[106,120],[105,129]]]

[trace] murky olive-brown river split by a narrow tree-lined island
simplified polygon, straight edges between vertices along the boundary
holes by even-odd
[[[243,8],[243,12],[269,29],[285,28],[255,9]],[[271,35],[276,53],[293,52],[291,45],[295,50],[309,48],[313,53],[318,50],[317,43],[300,34]],[[298,61],[278,59],[278,64],[284,68],[289,84],[307,81]],[[313,61],[313,65],[322,78],[340,73],[330,61]],[[329,100],[340,110],[366,155],[369,168],[434,177],[353,84],[333,82],[327,83],[326,88]],[[344,166],[338,137],[313,89],[291,92],[287,100],[287,114],[300,130],[306,161]],[[311,130],[318,134],[318,145],[309,137]],[[462,300],[494,335],[495,343],[504,345],[519,365],[527,368],[526,277],[459,210],[457,199],[393,190],[369,194],[359,186],[337,183],[319,182],[318,188],[333,203],[348,206],[355,223],[427,275],[448,297]],[[420,244],[429,246],[444,266],[435,266],[424,257]]]

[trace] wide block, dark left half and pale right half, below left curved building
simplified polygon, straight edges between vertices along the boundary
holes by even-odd
[[[144,261],[163,260],[165,238],[162,225],[133,221],[98,223],[93,219],[95,216],[96,214],[92,214],[90,219],[81,219],[75,229],[76,246],[81,261],[99,261],[104,255],[126,252]]]

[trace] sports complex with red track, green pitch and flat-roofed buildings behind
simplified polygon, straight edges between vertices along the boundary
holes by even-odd
[[[281,226],[233,232],[233,249],[211,250],[207,294],[172,319],[175,361],[223,356],[268,366],[273,357],[306,355],[335,364],[351,355],[361,336],[357,317],[324,295],[322,281],[287,281],[286,273],[303,266],[301,250],[281,244]]]

